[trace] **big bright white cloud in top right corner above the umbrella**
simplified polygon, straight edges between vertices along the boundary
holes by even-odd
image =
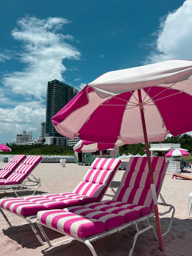
[[[192,0],[186,0],[179,9],[160,20],[156,49],[146,63],[171,59],[192,59]]]

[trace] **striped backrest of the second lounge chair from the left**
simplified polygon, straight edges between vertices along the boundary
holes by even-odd
[[[34,170],[36,165],[43,160],[42,156],[29,156],[8,178],[10,181],[21,183]]]

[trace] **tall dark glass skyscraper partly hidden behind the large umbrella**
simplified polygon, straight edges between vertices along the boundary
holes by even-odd
[[[46,105],[46,134],[48,137],[63,137],[55,130],[51,117],[58,113],[75,96],[74,89],[72,86],[56,79],[48,82]],[[55,143],[53,142],[53,144]]]

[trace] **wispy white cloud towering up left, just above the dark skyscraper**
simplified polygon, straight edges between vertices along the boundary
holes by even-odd
[[[76,47],[66,43],[66,40],[73,41],[73,36],[58,33],[68,23],[67,19],[60,17],[38,19],[26,16],[18,19],[19,28],[13,29],[11,34],[23,43],[18,60],[25,64],[25,68],[4,75],[4,86],[16,94],[41,99],[45,96],[47,81],[64,81],[62,73],[66,67],[63,61],[78,60],[81,55]]]

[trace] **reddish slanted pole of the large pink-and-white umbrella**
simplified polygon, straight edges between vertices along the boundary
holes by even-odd
[[[144,136],[144,140],[145,140],[147,162],[148,162],[148,166],[149,166],[151,190],[152,190],[153,201],[154,201],[154,211],[155,211],[155,217],[156,217],[159,249],[161,252],[163,252],[164,246],[163,246],[162,233],[161,233],[161,225],[160,225],[160,218],[159,218],[159,211],[158,211],[158,204],[157,204],[156,189],[155,189],[153,171],[152,171],[152,166],[151,166],[151,157],[150,157],[150,153],[149,153],[149,143],[148,143],[148,138],[147,138],[147,129],[146,129],[146,124],[145,124],[145,115],[144,115],[144,107],[143,107],[142,96],[141,96],[141,89],[137,90],[137,92],[138,92],[139,103],[140,103],[139,107],[140,107],[141,121],[142,121],[142,126],[143,126],[143,136]]]

